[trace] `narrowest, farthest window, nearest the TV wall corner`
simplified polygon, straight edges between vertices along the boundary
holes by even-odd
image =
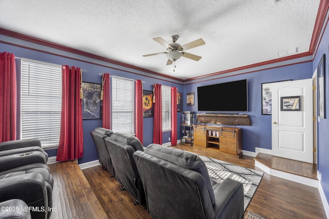
[[[161,86],[162,131],[171,130],[171,87]]]

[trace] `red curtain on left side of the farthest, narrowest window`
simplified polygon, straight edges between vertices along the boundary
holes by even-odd
[[[153,143],[162,145],[162,96],[161,85],[153,85],[153,103],[154,103],[154,120],[153,120]]]

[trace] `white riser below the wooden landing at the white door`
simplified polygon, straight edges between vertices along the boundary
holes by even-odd
[[[280,171],[280,170],[271,169],[271,168],[261,164],[258,161],[255,161],[255,166],[260,168],[261,170],[263,170],[264,172],[266,172],[269,175],[284,178],[285,180],[290,180],[290,181],[293,181],[293,182],[296,182],[296,183],[301,183],[301,184],[304,184],[306,186],[312,186],[314,188],[319,188],[319,181],[318,180],[314,180],[312,178],[307,178],[307,177],[303,177],[303,176],[283,172],[283,171]]]

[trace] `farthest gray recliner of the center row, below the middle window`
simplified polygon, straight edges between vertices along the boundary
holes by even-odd
[[[115,173],[104,138],[111,136],[113,133],[112,130],[105,128],[96,128],[95,131],[90,132],[98,152],[98,161],[109,173],[112,174],[112,176],[114,176]]]

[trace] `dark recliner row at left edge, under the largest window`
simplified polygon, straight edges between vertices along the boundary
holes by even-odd
[[[49,218],[53,178],[37,139],[0,143],[0,218]]]

